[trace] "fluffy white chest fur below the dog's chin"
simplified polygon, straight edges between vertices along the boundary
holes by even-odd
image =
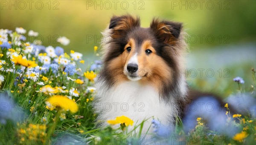
[[[106,89],[104,83],[98,82],[96,88],[99,102],[94,107],[102,121],[125,115],[134,120],[135,125],[139,125],[148,119],[144,123],[147,129],[153,116],[165,125],[173,121],[172,104],[160,101],[158,92],[152,86],[126,81],[111,89]]]

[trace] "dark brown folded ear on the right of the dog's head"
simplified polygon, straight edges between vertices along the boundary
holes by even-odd
[[[162,42],[173,44],[180,36],[182,23],[153,19],[150,28],[153,30],[154,35]]]

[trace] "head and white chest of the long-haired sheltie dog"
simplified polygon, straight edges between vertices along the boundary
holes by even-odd
[[[182,23],[153,19],[149,28],[131,15],[113,16],[102,33],[102,71],[96,80],[96,112],[102,125],[126,116],[173,128],[188,97]]]

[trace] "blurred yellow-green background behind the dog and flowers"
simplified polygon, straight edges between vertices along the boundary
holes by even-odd
[[[87,62],[97,59],[93,55],[93,46],[100,46],[100,32],[106,28],[111,16],[129,13],[140,16],[143,27],[148,27],[153,17],[183,22],[190,35],[186,38],[190,47],[188,68],[213,68],[215,74],[219,69],[230,70],[230,78],[218,75],[213,77],[215,79],[206,76],[189,78],[192,82],[201,80],[201,88],[223,89],[236,75],[249,79],[250,68],[256,66],[255,0],[1,0],[0,4],[0,28],[15,30],[23,27],[39,32],[44,38],[43,45],[59,45],[66,52],[81,52]],[[70,44],[53,44],[55,35],[66,36]],[[213,85],[219,83],[220,78],[228,83]],[[204,84],[205,81],[212,85]]]

